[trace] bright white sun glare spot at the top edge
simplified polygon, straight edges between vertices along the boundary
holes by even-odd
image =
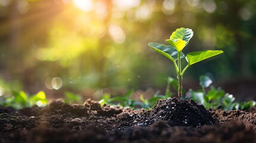
[[[85,12],[92,11],[94,8],[94,4],[91,0],[73,0],[73,4],[75,7]]]

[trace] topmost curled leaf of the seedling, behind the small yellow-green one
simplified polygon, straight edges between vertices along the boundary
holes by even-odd
[[[194,33],[193,33],[192,29],[187,29],[187,28],[181,27],[180,29],[176,29],[175,32],[172,32],[169,40],[175,41],[177,39],[181,39],[182,41],[185,41],[186,45],[187,45],[187,43],[189,43],[189,41],[193,37],[193,35],[194,35]]]

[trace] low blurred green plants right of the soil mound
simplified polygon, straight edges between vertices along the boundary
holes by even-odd
[[[198,91],[189,90],[188,96],[193,100],[205,106],[205,108],[223,109],[223,110],[247,110],[256,105],[255,101],[237,102],[232,94],[226,93],[223,89],[212,86],[212,80],[209,76],[200,76],[200,85],[202,89]],[[206,92],[206,88],[209,90]]]

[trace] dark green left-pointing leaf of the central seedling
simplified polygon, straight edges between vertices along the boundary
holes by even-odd
[[[156,52],[164,55],[169,58],[172,62],[178,60],[178,51],[172,46],[166,46],[160,43],[149,43],[149,46],[153,48]],[[181,58],[184,58],[185,55],[181,52]]]

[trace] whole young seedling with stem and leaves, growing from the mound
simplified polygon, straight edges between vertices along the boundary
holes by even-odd
[[[169,39],[166,39],[170,45],[166,46],[160,43],[149,43],[149,46],[153,48],[156,52],[169,58],[169,60],[174,63],[175,70],[177,72],[178,78],[178,98],[181,99],[182,96],[182,80],[183,74],[192,64],[198,63],[199,61],[205,60],[206,58],[213,57],[215,55],[223,53],[221,50],[206,50],[198,52],[190,52],[186,56],[183,54],[183,48],[189,43],[193,36],[193,31],[191,29],[183,28],[176,29],[172,32]],[[187,66],[182,70],[181,59],[186,58]]]

